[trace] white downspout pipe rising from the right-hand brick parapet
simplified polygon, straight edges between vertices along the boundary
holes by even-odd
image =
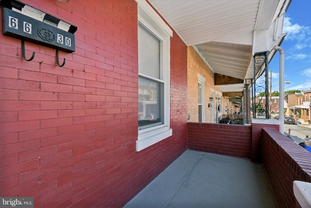
[[[279,118],[280,118],[280,132],[284,134],[284,49],[279,46],[275,46],[274,50],[280,53],[280,103],[279,103]]]

